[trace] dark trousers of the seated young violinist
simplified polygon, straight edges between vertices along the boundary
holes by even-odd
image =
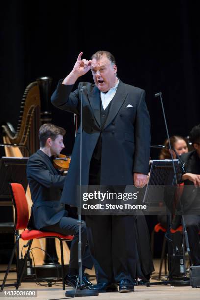
[[[61,233],[63,235],[74,235],[70,247],[70,272],[78,273],[78,223],[77,220],[70,217],[62,217],[61,220],[47,227],[42,228],[44,231],[54,231]],[[85,268],[92,269],[93,261],[91,259],[91,254],[89,247],[87,245],[87,230],[85,222],[81,225],[81,241],[82,241],[82,265]]]

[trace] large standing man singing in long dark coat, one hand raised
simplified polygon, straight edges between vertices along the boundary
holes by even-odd
[[[96,52],[91,60],[79,54],[73,70],[61,80],[51,97],[62,109],[80,114],[82,93],[82,185],[146,184],[150,157],[150,118],[145,91],[123,83],[117,77],[114,56]],[[94,84],[76,80],[92,70]],[[77,205],[80,180],[80,128],[75,139],[68,179],[61,201]],[[86,216],[97,286],[99,291],[134,291],[136,249],[133,216]],[[136,245],[135,245],[136,247]]]

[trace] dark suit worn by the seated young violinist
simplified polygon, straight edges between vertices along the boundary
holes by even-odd
[[[78,270],[78,224],[68,217],[65,205],[60,202],[65,177],[58,175],[51,159],[43,151],[37,150],[27,163],[27,178],[33,205],[28,228],[54,231],[64,235],[74,235],[70,247],[70,269]],[[92,261],[85,246],[86,226],[82,226],[83,265],[92,267]],[[74,271],[75,272],[75,271]]]

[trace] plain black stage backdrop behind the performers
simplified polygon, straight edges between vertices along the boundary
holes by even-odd
[[[199,1],[22,1],[1,2],[0,121],[16,128],[25,87],[37,77],[57,81],[77,55],[114,54],[119,78],[145,89],[152,144],[166,138],[163,93],[170,135],[187,136],[200,123]],[[89,72],[82,77],[91,81]],[[73,115],[52,106],[53,120],[67,129],[64,153],[74,143]],[[156,152],[151,158],[157,158]],[[84,158],[83,158],[84,159]]]

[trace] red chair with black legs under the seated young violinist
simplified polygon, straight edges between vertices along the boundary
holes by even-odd
[[[30,252],[30,248],[33,242],[33,239],[40,239],[40,238],[57,238],[60,241],[60,251],[61,251],[61,264],[62,264],[62,283],[63,283],[63,290],[65,290],[65,281],[64,281],[64,260],[63,260],[63,241],[66,240],[72,240],[73,236],[71,235],[62,235],[57,232],[45,232],[40,230],[28,230],[27,224],[28,224],[28,203],[25,196],[25,190],[23,186],[19,183],[10,183],[9,184],[11,196],[12,196],[12,202],[15,209],[15,225],[14,225],[14,234],[16,236],[15,245],[10,257],[10,261],[8,263],[8,267],[3,279],[3,284],[1,285],[1,292],[4,289],[4,286],[15,286],[16,290],[21,284],[22,276],[24,274],[25,265],[27,262],[27,258]],[[24,231],[21,234],[18,234],[18,230],[24,229]],[[22,239],[24,241],[30,240],[29,247],[27,250],[27,253],[25,254],[25,261],[21,270],[21,274],[17,278],[17,282],[14,284],[5,284],[8,273],[10,271],[11,263],[15,254],[16,249],[18,249],[19,245],[19,239]],[[17,257],[18,259],[18,257]]]

